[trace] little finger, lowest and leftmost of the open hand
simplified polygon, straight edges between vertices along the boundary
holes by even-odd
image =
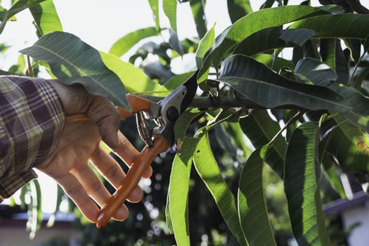
[[[68,173],[55,180],[60,184],[67,196],[75,202],[75,205],[77,205],[86,219],[96,223],[99,212],[98,206],[89,197],[75,176]]]

